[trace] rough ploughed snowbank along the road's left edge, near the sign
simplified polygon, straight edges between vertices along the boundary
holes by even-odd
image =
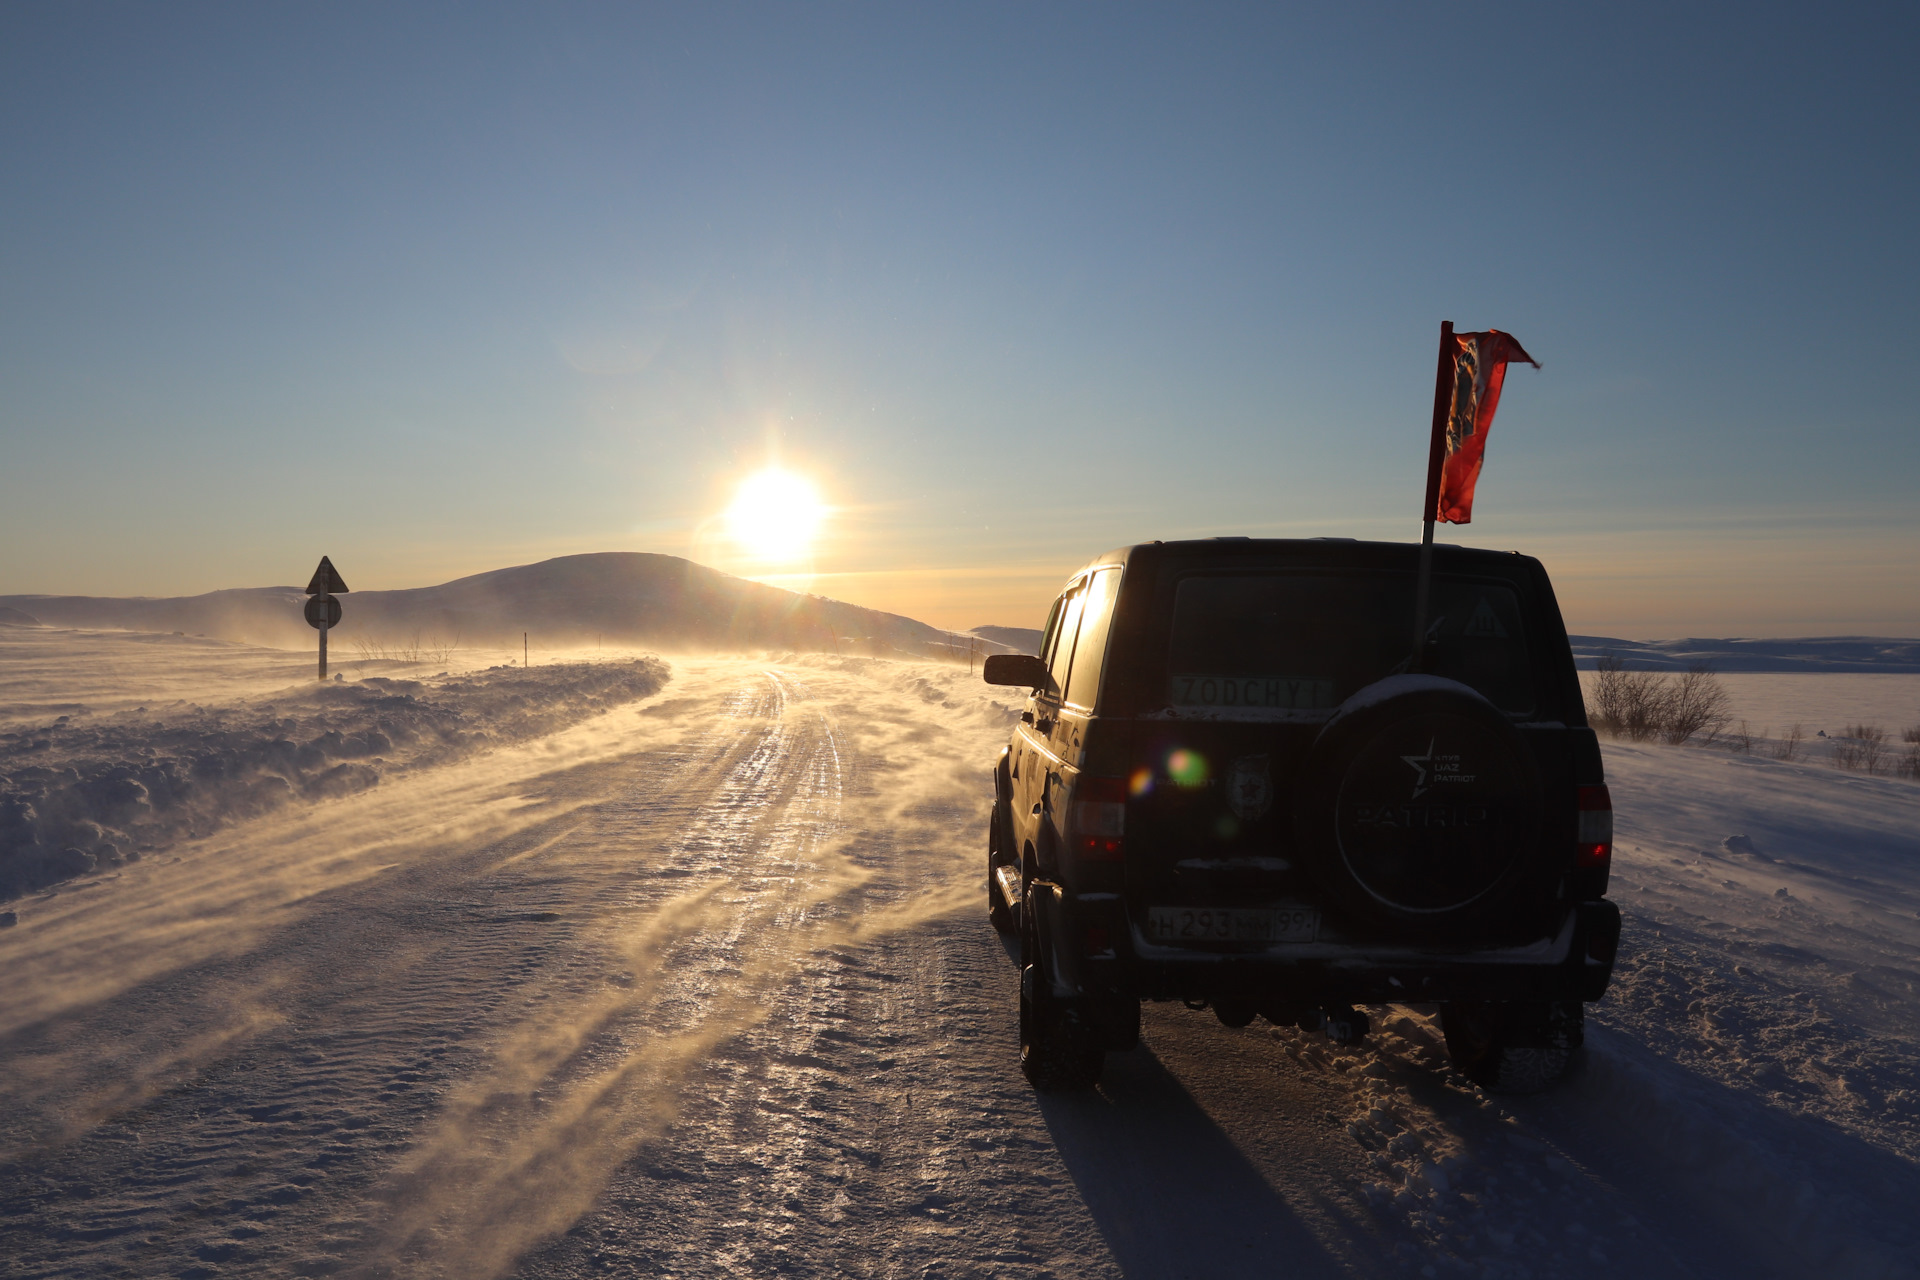
[[[0,900],[659,693],[659,658],[367,677],[0,733]]]

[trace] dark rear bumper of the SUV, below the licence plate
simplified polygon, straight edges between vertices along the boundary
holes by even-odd
[[[1607,900],[1572,906],[1551,938],[1528,946],[1273,946],[1256,954],[1146,942],[1116,896],[1035,894],[1052,919],[1062,984],[1146,1000],[1233,1000],[1252,1007],[1425,1004],[1448,1000],[1599,1000],[1613,977],[1620,912]],[[1069,940],[1114,940],[1104,950]],[[1079,954],[1073,954],[1079,952]],[[1066,994],[1066,992],[1062,992]]]

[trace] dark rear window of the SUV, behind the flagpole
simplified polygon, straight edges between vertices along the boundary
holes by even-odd
[[[1413,633],[1400,574],[1194,574],[1173,601],[1175,708],[1332,710],[1396,670]],[[1534,708],[1526,628],[1511,587],[1434,578],[1427,670],[1509,714]]]

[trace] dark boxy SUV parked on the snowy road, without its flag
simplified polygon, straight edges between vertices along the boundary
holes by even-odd
[[[1317,537],[1077,572],[995,768],[987,892],[1020,931],[1020,1054],[1085,1088],[1140,1000],[1367,1034],[1436,1004],[1488,1088],[1555,1080],[1613,973],[1613,806],[1538,560]]]

